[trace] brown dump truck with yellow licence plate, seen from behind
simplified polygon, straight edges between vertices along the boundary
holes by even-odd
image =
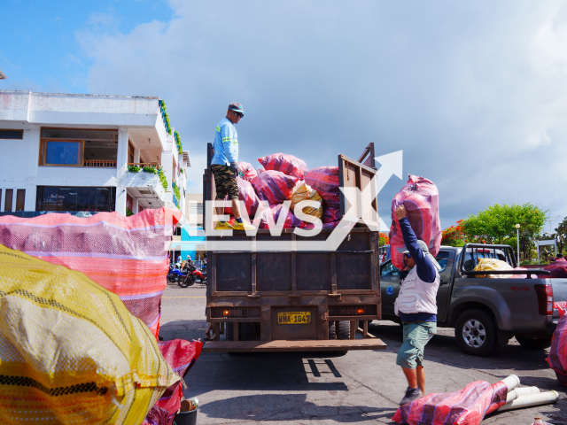
[[[209,143],[205,201],[216,197],[212,153]],[[369,321],[381,319],[379,236],[377,227],[368,225],[379,220],[374,157],[374,143],[358,161],[338,155],[339,185],[353,189],[355,196],[340,193],[340,217],[353,222],[353,228],[336,250],[314,250],[304,243],[328,241],[334,229],[311,237],[295,229],[283,229],[278,236],[268,229],[258,229],[254,236],[207,232],[206,321],[213,324],[214,338],[204,352],[386,349],[368,332]],[[212,228],[213,211],[205,208],[206,228]],[[283,248],[259,249],[267,241]],[[227,249],[229,242],[246,248]]]

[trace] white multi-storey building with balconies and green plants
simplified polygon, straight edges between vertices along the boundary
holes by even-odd
[[[158,97],[0,90],[0,213],[184,213],[189,166]]]

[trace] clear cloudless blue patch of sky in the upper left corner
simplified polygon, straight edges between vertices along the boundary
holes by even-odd
[[[165,1],[107,2],[4,0],[0,67],[8,75],[1,89],[43,89],[89,93],[87,73],[93,60],[84,56],[78,33],[116,28],[128,33],[151,20],[167,20]],[[10,85],[10,84],[12,85]]]

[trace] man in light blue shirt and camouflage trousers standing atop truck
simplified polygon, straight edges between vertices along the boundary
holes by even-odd
[[[238,135],[234,127],[246,112],[242,104],[233,102],[229,104],[227,116],[216,126],[213,143],[213,159],[211,160],[211,171],[214,174],[214,185],[216,187],[216,199],[224,200],[229,195],[232,201],[232,213],[234,214],[235,230],[252,230],[253,226],[242,221],[240,207],[238,205]],[[217,215],[224,214],[224,207],[216,208]],[[218,230],[233,228],[227,221],[217,221],[214,227]]]

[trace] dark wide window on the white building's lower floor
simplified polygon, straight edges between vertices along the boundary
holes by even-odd
[[[35,211],[113,212],[116,188],[38,186]]]

